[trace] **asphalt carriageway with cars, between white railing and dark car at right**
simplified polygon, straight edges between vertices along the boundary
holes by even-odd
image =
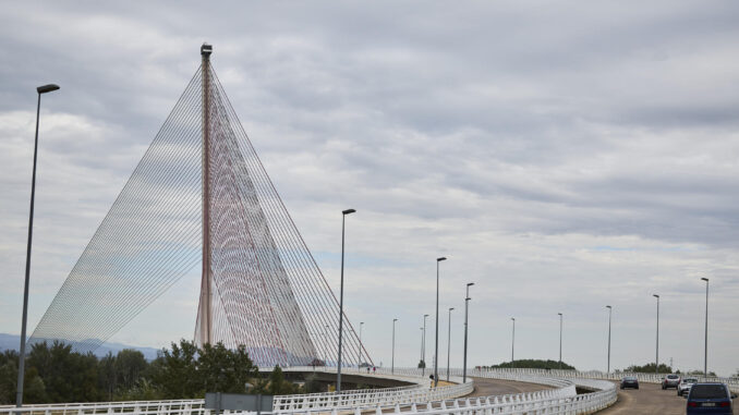
[[[598,412],[604,415],[678,415],[685,413],[685,398],[678,396],[675,389],[662,390],[659,385],[654,383],[641,383],[639,390],[619,389],[616,404]]]

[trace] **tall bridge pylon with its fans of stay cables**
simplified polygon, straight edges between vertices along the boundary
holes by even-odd
[[[337,298],[231,107],[211,50],[201,48],[201,66],[32,343],[93,351],[202,265],[198,344],[243,344],[259,366],[337,355]],[[342,318],[344,364],[372,362]]]

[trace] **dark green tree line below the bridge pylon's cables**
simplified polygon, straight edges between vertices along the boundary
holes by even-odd
[[[15,403],[17,367],[17,352],[0,353],[0,404]],[[216,391],[291,394],[314,392],[319,386],[314,379],[293,385],[279,367],[268,377],[259,376],[243,345],[198,347],[181,340],[152,362],[132,349],[98,358],[59,341],[36,343],[26,356],[23,388],[23,402],[31,404],[202,399]]]

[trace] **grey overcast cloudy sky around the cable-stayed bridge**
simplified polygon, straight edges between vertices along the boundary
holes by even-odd
[[[213,64],[375,363],[417,362],[441,267],[461,366],[558,355],[739,368],[739,5],[691,2],[14,2],[0,16],[0,332],[19,333],[35,87],[29,330],[199,64]],[[113,341],[191,338],[197,272]],[[433,318],[428,320],[433,326]],[[427,350],[433,351],[433,329]],[[429,358],[431,362],[431,358]]]

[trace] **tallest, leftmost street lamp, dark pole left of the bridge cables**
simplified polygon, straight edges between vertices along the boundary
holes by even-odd
[[[34,234],[34,199],[36,197],[36,160],[38,156],[38,120],[41,112],[41,94],[59,89],[59,85],[48,84],[36,88],[38,103],[36,105],[36,138],[34,139],[34,172],[31,179],[31,212],[28,213],[28,246],[26,249],[26,280],[23,288],[23,320],[21,321],[21,355],[17,366],[17,394],[15,405],[23,406],[23,377],[25,375],[26,358],[26,320],[28,319],[28,283],[31,280],[31,242]]]

